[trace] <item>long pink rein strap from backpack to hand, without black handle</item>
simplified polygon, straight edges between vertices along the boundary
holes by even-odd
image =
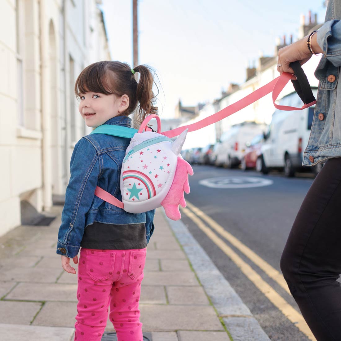
[[[277,105],[275,101],[277,100],[278,95],[280,92],[284,89],[285,85],[288,83],[288,81],[291,79],[293,75],[291,73],[283,72],[279,77],[273,79],[270,83],[262,86],[261,88],[255,90],[254,92],[250,93],[246,97],[242,98],[241,100],[237,101],[236,103],[233,103],[226,108],[220,110],[218,113],[213,114],[209,117],[204,118],[201,121],[192,123],[190,125],[184,125],[182,127],[168,130],[163,133],[162,135],[165,135],[167,137],[174,137],[180,135],[185,129],[188,128],[188,132],[198,130],[204,127],[207,127],[207,125],[210,125],[212,123],[216,123],[220,120],[222,120],[225,117],[228,117],[237,111],[247,107],[251,103],[259,100],[260,98],[264,97],[268,93],[272,91],[272,102],[275,108],[280,110],[302,110],[305,109],[311,105],[314,105],[316,101],[311,102],[309,104],[303,105],[301,108],[291,107],[291,106],[284,106],[284,105]]]

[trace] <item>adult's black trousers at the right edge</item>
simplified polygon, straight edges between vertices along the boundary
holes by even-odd
[[[341,340],[341,158],[314,179],[286,242],[281,270],[318,341]]]

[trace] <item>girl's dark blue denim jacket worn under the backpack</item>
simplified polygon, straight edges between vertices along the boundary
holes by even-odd
[[[104,124],[131,127],[129,117],[113,117]],[[57,254],[73,258],[78,254],[86,226],[94,221],[104,224],[145,223],[147,241],[153,233],[155,210],[129,213],[94,195],[96,186],[122,200],[120,174],[130,138],[106,134],[82,137],[72,153],[71,177],[66,188],[62,223],[58,232]]]

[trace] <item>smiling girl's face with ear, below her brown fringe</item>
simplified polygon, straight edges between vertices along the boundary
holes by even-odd
[[[97,128],[110,118],[113,118],[127,109],[129,98],[127,95],[117,97],[113,93],[105,95],[100,92],[80,93],[79,113],[85,124]]]

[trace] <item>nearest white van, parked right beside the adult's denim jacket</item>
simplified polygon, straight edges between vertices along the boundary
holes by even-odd
[[[317,90],[313,89],[316,98]],[[300,107],[302,101],[296,92],[286,95],[280,105]],[[292,177],[296,170],[307,170],[302,167],[303,152],[308,145],[315,106],[303,110],[276,110],[272,115],[261,154],[256,161],[256,170],[267,174],[270,169],[283,170],[286,176]],[[322,165],[314,168],[318,173]],[[304,168],[304,169],[303,169]]]

